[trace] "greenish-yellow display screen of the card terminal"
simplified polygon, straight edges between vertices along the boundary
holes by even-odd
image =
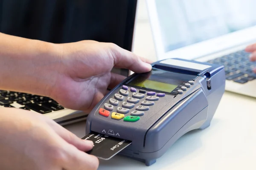
[[[128,85],[170,93],[178,85],[187,82],[182,80],[182,76],[183,74],[153,68],[148,73],[138,74],[138,76],[128,82]]]

